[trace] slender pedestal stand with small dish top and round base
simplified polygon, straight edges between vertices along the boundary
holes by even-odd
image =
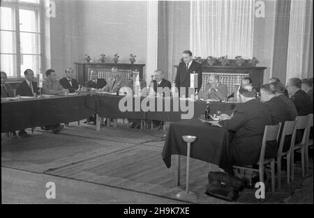
[[[188,191],[188,180],[190,178],[190,144],[196,139],[194,136],[182,136],[182,139],[187,143],[186,150],[186,189],[176,194],[177,198],[193,200],[197,198],[197,194]]]

